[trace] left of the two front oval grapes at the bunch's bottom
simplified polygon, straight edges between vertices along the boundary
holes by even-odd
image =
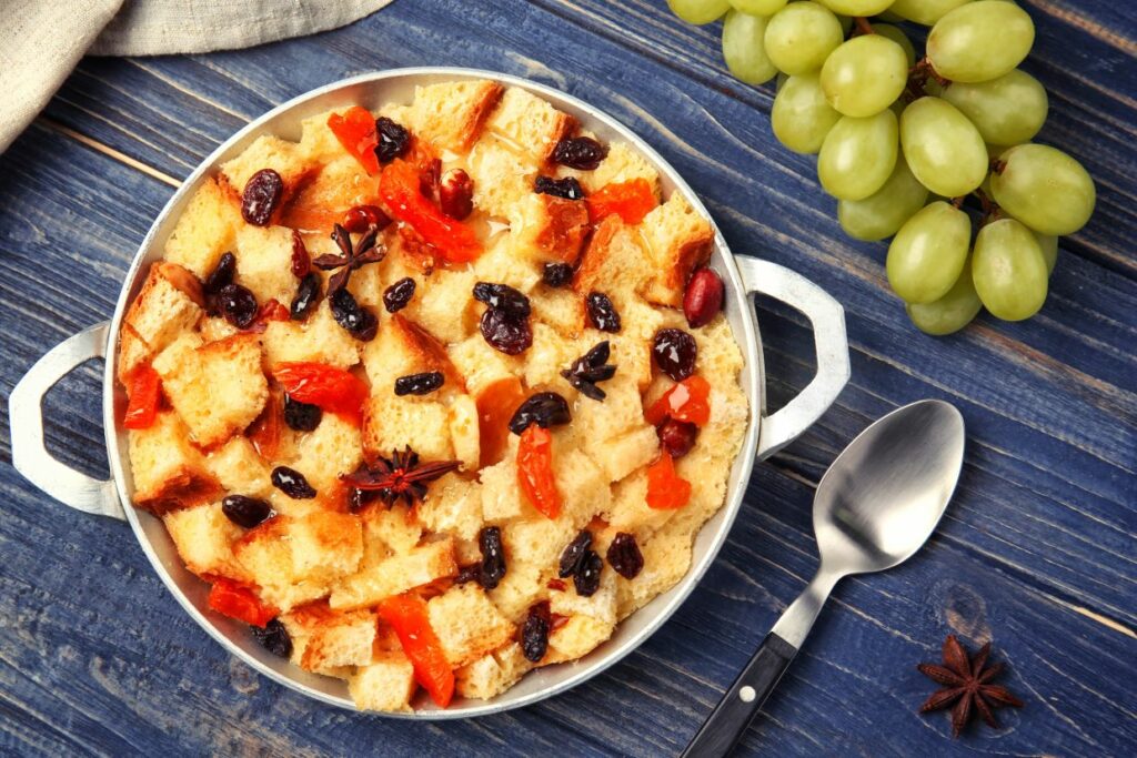
[[[971,219],[943,200],[928,203],[893,238],[885,270],[905,302],[939,300],[960,278],[968,260]]]

